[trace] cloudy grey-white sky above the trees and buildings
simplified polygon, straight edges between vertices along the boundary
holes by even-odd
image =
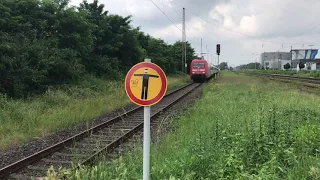
[[[82,0],[71,0],[78,6]],[[93,0],[87,0],[92,2]],[[172,44],[186,36],[196,54],[231,66],[260,62],[262,52],[320,48],[319,0],[100,0],[111,14],[132,15],[132,26]],[[167,16],[167,17],[166,17]],[[313,46],[310,46],[313,45]],[[320,52],[316,58],[320,58]]]

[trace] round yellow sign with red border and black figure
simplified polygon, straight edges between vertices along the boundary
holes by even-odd
[[[167,77],[156,64],[141,62],[127,73],[125,90],[132,102],[140,106],[158,103],[167,91]]]

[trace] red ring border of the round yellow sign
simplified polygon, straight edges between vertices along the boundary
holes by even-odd
[[[133,73],[143,67],[148,67],[148,68],[152,68],[153,70],[155,70],[160,75],[160,79],[162,81],[162,84],[165,84],[165,86],[161,87],[159,94],[155,98],[150,99],[148,101],[143,101],[143,100],[136,98],[130,89],[130,79],[133,76]],[[166,94],[167,87],[168,87],[168,81],[167,81],[166,74],[158,65],[151,63],[151,62],[140,62],[140,63],[134,65],[127,73],[126,79],[125,79],[125,90],[126,90],[128,97],[130,98],[130,100],[132,102],[134,102],[135,104],[140,105],[140,106],[152,106],[152,105],[158,103],[163,98],[163,96]]]

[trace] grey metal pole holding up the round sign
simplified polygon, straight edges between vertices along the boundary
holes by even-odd
[[[145,59],[144,62],[151,62],[151,59]],[[150,178],[150,109],[144,107],[143,118],[143,180]]]

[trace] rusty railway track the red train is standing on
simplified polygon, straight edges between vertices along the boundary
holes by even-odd
[[[168,93],[152,106],[151,121],[201,85],[190,83]],[[112,152],[141,129],[143,107],[137,107],[0,169],[0,179],[44,177],[51,165],[71,169],[72,163],[90,164]]]

